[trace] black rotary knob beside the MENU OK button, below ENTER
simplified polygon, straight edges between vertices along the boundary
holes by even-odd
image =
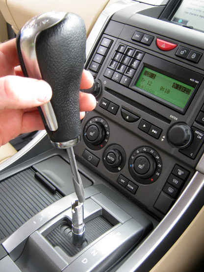
[[[175,124],[168,131],[168,140],[176,148],[186,148],[192,138],[191,128],[186,124]]]

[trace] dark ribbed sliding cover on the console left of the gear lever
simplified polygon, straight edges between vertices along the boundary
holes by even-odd
[[[52,194],[34,175],[29,168],[0,182],[0,240],[62,198],[57,191]]]

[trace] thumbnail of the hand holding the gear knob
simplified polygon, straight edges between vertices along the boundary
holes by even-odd
[[[36,85],[38,92],[37,100],[41,103],[50,101],[52,96],[51,86],[44,80],[36,81]]]

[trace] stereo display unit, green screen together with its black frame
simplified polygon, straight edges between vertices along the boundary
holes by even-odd
[[[202,79],[201,74],[146,54],[131,88],[184,114]]]

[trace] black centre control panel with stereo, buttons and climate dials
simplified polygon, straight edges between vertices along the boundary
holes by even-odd
[[[101,87],[75,150],[161,219],[204,151],[203,33],[131,9],[113,15],[89,56]]]

